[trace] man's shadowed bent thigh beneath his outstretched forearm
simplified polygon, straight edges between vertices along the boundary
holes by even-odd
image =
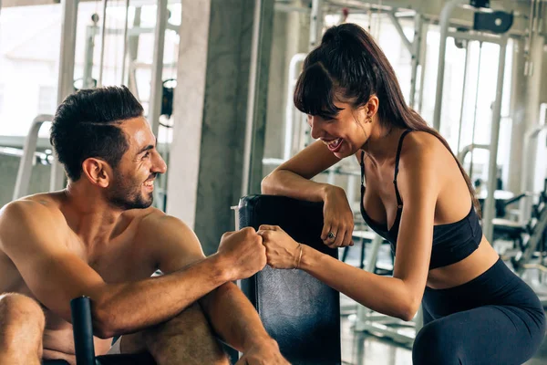
[[[149,351],[158,365],[230,364],[197,303],[168,322],[120,340],[122,353]]]

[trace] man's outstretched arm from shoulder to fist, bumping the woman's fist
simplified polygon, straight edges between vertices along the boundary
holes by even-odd
[[[67,248],[67,228],[61,222],[64,216],[60,212],[41,203],[10,203],[0,211],[0,245],[36,298],[67,321],[71,320],[70,300],[90,297],[93,327],[101,338],[168,320],[214,288],[240,276],[251,276],[265,265],[263,258],[263,263],[259,259],[235,266],[243,249],[263,248],[261,238],[246,230],[223,237],[222,253],[171,275],[107,284]]]

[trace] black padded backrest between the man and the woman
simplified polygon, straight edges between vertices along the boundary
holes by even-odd
[[[337,258],[337,250],[321,241],[323,203],[252,195],[239,204],[240,228],[279,225],[294,240]],[[243,292],[293,365],[341,363],[340,296],[302,270],[263,271],[242,280]]]

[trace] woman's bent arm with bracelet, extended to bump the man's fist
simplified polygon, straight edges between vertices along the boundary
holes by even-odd
[[[367,308],[405,320],[413,318],[428,277],[435,204],[443,180],[436,173],[439,171],[439,153],[433,153],[434,149],[417,146],[408,149],[401,157],[397,187],[403,199],[403,213],[393,277],[378,276],[349,266],[306,245],[303,245],[299,268]],[[270,237],[262,235],[269,264],[279,267],[283,261],[278,255],[284,252],[293,256],[284,260],[287,265],[298,261],[294,257],[299,255],[299,249],[294,241],[290,244],[283,242],[281,235],[276,233]],[[280,250],[276,245],[283,245],[285,249]]]

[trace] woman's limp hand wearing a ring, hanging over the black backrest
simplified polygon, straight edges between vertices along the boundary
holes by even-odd
[[[353,212],[347,203],[344,189],[327,185],[323,206],[323,232],[321,239],[331,248],[353,245]]]

